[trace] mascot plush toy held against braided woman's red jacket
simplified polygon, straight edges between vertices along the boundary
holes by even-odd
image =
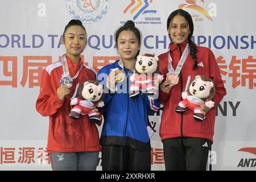
[[[190,76],[188,77],[185,92],[181,93],[183,100],[180,101],[179,104],[175,107],[175,111],[177,113],[183,113],[188,107],[194,111],[193,118],[196,121],[203,121],[204,115],[200,111],[200,102],[203,102],[209,108],[214,106],[214,102],[211,101],[215,94],[214,82],[210,78],[207,78],[203,75],[197,75],[190,86],[189,82]]]

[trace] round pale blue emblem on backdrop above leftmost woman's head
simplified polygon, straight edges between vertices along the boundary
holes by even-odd
[[[109,11],[110,0],[66,0],[69,14],[83,23],[94,23]]]

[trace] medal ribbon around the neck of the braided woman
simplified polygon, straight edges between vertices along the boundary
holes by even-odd
[[[187,59],[187,57],[189,55],[189,52],[190,52],[190,48],[187,44],[187,46],[185,47],[184,52],[182,53],[182,55],[180,57],[179,63],[177,64],[177,67],[174,71],[174,68],[172,67],[172,57],[171,57],[171,54],[170,54],[170,51],[169,51],[168,66],[167,66],[167,69],[168,69],[169,72],[166,75],[168,75],[170,73],[175,73],[176,75],[179,75],[180,71],[181,71],[181,68],[183,67],[183,65],[185,63],[185,60]]]

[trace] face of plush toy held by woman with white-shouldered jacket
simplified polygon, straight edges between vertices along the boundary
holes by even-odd
[[[84,88],[82,89],[82,97],[86,100],[90,100],[92,102],[97,102],[102,97],[102,85],[95,85],[90,82],[84,83]]]

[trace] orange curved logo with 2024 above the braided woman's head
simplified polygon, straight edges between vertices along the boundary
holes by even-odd
[[[201,3],[204,3],[204,0],[200,0]],[[215,3],[210,3],[208,8],[209,10],[207,11],[204,9],[202,6],[205,6],[204,4],[202,6],[198,5],[196,0],[185,0],[186,3],[182,3],[179,5],[179,9],[191,9],[195,10],[201,15],[204,15],[205,18],[210,20],[211,22],[213,21],[212,17],[217,16],[217,8]],[[192,12],[190,12],[192,13]],[[196,22],[202,22],[204,18],[199,18],[199,15],[191,15],[193,18],[195,18]]]

